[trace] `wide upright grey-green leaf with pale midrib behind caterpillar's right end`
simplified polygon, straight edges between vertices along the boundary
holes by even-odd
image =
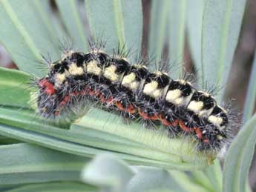
[[[226,85],[245,6],[246,0],[206,1],[202,36],[203,83],[207,79],[214,85]]]

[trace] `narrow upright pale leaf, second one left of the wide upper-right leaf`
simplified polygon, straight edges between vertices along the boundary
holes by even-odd
[[[171,78],[182,76],[185,41],[186,0],[170,1],[169,24],[169,59],[174,69]]]

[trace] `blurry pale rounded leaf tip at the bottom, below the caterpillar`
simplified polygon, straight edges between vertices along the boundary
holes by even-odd
[[[96,156],[82,171],[82,180],[102,188],[102,191],[125,191],[134,176],[128,164],[110,154]]]

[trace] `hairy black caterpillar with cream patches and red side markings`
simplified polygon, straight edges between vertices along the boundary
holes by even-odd
[[[232,138],[230,112],[210,93],[164,71],[150,72],[143,59],[131,64],[122,49],[108,55],[102,45],[90,45],[88,53],[67,51],[36,80],[36,104],[45,118],[90,101],[145,127],[161,125],[170,136],[192,136],[200,151],[220,151]]]

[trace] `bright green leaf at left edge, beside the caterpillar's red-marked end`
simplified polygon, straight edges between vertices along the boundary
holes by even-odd
[[[0,67],[0,105],[30,107],[30,76],[19,70]]]

